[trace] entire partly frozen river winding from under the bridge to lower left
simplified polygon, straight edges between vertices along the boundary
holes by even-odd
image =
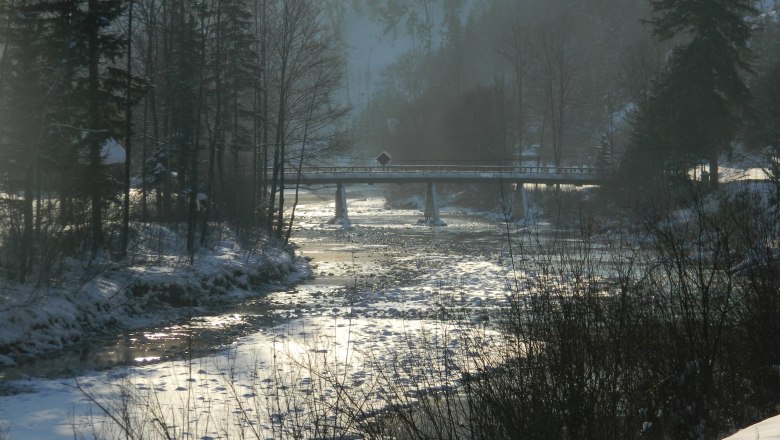
[[[0,397],[10,438],[335,436],[455,385],[469,353],[504,343],[497,318],[522,269],[506,225],[445,210],[448,226],[420,226],[419,211],[386,209],[372,187],[353,189],[349,208],[344,231],[328,224],[329,197],[298,206],[292,241],[314,278],[85,349],[76,377],[13,382],[21,392]]]

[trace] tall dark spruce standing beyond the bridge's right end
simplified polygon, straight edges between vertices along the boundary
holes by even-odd
[[[678,168],[710,164],[718,180],[718,157],[729,151],[739,112],[749,93],[750,0],[652,0],[649,23],[657,37],[679,37],[666,74],[658,82],[649,112],[660,122],[664,145]]]

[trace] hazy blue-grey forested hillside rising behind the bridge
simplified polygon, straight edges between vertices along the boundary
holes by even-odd
[[[355,142],[409,163],[510,163],[528,148],[544,163],[619,161],[688,38],[654,35],[641,0],[365,3],[345,26]],[[778,53],[774,3],[755,6],[750,83]]]

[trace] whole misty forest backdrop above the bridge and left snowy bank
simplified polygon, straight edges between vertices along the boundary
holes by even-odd
[[[36,189],[54,189],[60,220],[88,210],[99,247],[121,188],[121,248],[134,193],[144,219],[187,223],[191,252],[214,218],[288,237],[285,172],[334,152],[508,166],[530,152],[644,181],[706,164],[717,181],[722,154],[776,136],[762,117],[776,6],[726,3],[702,10],[722,14],[711,26],[644,0],[7,1],[1,171],[29,189],[24,236],[45,223]],[[103,166],[109,139],[124,166]]]

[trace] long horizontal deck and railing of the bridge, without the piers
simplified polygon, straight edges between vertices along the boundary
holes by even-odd
[[[270,174],[270,173],[269,173]],[[600,185],[613,175],[611,169],[584,167],[465,167],[456,165],[395,165],[387,167],[309,167],[287,170],[285,181],[302,184],[413,183],[413,182],[513,182],[568,185]]]

